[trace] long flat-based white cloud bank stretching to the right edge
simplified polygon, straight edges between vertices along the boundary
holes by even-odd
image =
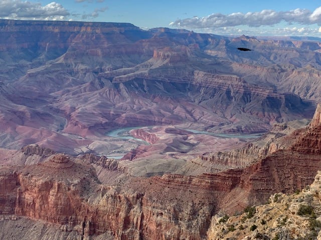
[[[321,25],[321,6],[316,8],[313,12],[308,9],[296,8],[289,11],[275,11],[264,9],[257,12],[234,12],[228,15],[221,13],[213,13],[204,17],[191,17],[185,19],[178,19],[171,22],[171,26],[183,28],[217,28],[224,26],[239,26],[247,25],[250,27],[272,26],[280,22],[287,22],[288,24],[313,24]]]

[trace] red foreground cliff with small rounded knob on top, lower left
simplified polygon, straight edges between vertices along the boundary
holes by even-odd
[[[189,236],[202,239],[213,210],[212,206],[203,205],[207,201],[206,190],[222,189],[218,183],[216,187],[208,184],[200,190],[199,184],[210,179],[207,175],[193,180],[189,194],[203,191],[202,197],[197,197],[199,200],[189,203],[187,211],[182,211],[183,202],[165,203],[164,197],[156,200],[158,196],[153,193],[162,190],[164,184],[185,192],[185,180],[173,182],[171,178],[176,177],[164,176],[159,184],[157,178],[134,179],[127,183],[131,189],[119,191],[116,187],[101,185],[89,164],[70,162],[68,157],[59,154],[51,161],[33,166],[2,167],[0,214],[42,219],[85,237],[108,231],[115,239],[167,237],[174,240]],[[224,174],[221,180],[227,180]],[[171,182],[174,184],[168,184]],[[225,184],[231,187],[231,180]],[[179,194],[177,192],[177,196]],[[186,200],[189,201],[185,199],[184,203]],[[195,215],[199,211],[201,217]]]

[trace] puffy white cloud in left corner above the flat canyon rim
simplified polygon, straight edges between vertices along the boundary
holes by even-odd
[[[0,17],[5,19],[65,20],[70,13],[60,3],[0,0]]]

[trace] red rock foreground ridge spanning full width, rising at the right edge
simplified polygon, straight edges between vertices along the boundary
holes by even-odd
[[[139,177],[130,175],[114,160],[90,155],[72,159],[65,154],[50,155],[46,161],[34,165],[3,165],[0,167],[0,219],[3,219],[0,224],[9,226],[9,222],[16,219],[18,225],[25,226],[29,219],[37,223],[28,224],[37,228],[41,222],[45,226],[43,232],[56,229],[57,237],[53,239],[62,236],[69,239],[222,239],[217,238],[215,229],[227,229],[227,225],[219,224],[223,214],[218,213],[242,212],[249,205],[267,202],[270,195],[277,192],[282,192],[278,199],[289,199],[283,193],[300,191],[313,182],[321,169],[321,125],[317,119],[320,109],[318,106],[305,130],[293,133],[299,135],[289,147],[244,168],[216,173]],[[110,184],[101,182],[98,169],[104,171]],[[307,196],[304,192],[299,195],[302,194],[306,204],[308,199],[316,202],[313,209],[317,217],[319,211],[313,197],[318,197],[318,193]],[[289,212],[296,211],[294,205]],[[288,206],[290,209],[292,203]],[[248,222],[245,219],[246,227],[251,227],[252,219],[256,219],[253,225],[257,226],[257,233],[263,234],[265,228],[256,224],[261,218],[251,218]],[[283,219],[280,218],[280,224],[292,224],[290,217]],[[239,224],[226,222],[224,224],[240,229]],[[292,225],[296,229],[295,224]],[[268,227],[264,235],[271,237],[277,233],[276,230],[269,232]],[[317,226],[314,229],[316,231]],[[230,230],[232,232],[232,226]],[[16,233],[9,232],[13,239]],[[37,237],[34,239],[47,239],[45,233]]]

